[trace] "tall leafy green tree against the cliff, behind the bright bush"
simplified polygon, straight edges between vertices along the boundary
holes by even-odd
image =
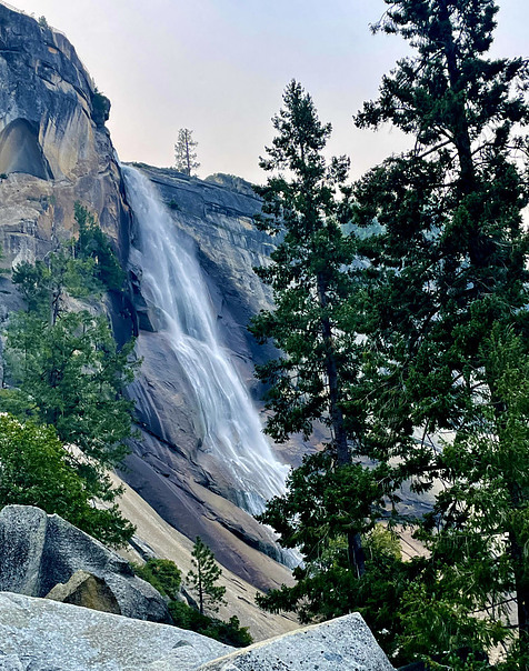
[[[48,254],[47,263],[23,263],[13,272],[28,311],[13,316],[8,327],[11,388],[0,391],[0,408],[21,421],[52,425],[63,444],[76,447],[70,464],[87,497],[109,508],[109,538],[121,532],[124,539],[132,528],[118,514],[121,490],[106,469],[128,451],[132,403],[122,390],[137,367],[129,361],[133,343],[118,350],[104,317],[67,310],[69,296],[86,298],[101,287],[93,259],[74,259],[72,252],[71,246],[62,247]]]

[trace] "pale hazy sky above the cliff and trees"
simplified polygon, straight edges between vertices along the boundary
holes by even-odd
[[[396,131],[355,129],[405,43],[372,36],[383,0],[12,0],[63,31],[106,93],[122,161],[167,167],[179,128],[194,131],[199,176],[262,182],[259,154],[292,78],[331,121],[332,153],[353,176],[398,151]],[[499,0],[495,56],[529,54],[529,1]]]

